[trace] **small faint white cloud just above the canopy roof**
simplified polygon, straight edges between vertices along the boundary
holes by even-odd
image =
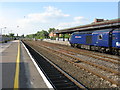
[[[80,25],[84,25],[84,24],[88,24],[88,23],[89,23],[88,19],[86,19],[85,17],[82,17],[82,16],[78,16],[78,17],[74,17],[72,22],[60,23],[56,28],[64,29],[64,28],[80,26]]]

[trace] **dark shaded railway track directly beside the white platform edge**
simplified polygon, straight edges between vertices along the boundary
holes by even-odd
[[[55,90],[61,90],[61,89],[74,89],[74,90],[80,90],[82,89],[88,89],[84,85],[82,85],[80,82],[75,80],[73,77],[68,75],[66,72],[64,72],[62,69],[60,69],[57,65],[49,61],[47,58],[42,56],[39,52],[37,52],[35,49],[24,43],[25,46],[28,48],[29,52],[45,74],[45,76],[48,78],[52,86]]]

